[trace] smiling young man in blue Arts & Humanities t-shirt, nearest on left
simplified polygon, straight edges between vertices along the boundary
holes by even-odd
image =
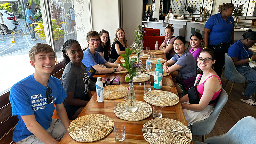
[[[35,73],[14,84],[10,90],[13,115],[18,124],[13,132],[16,144],[58,144],[70,123],[63,100],[67,94],[61,81],[50,76],[56,54],[48,44],[37,43],[29,51]],[[60,120],[52,119],[56,105]]]

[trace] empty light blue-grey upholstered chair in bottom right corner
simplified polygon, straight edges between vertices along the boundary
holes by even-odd
[[[256,144],[256,119],[247,116],[239,120],[227,133],[193,144]]]

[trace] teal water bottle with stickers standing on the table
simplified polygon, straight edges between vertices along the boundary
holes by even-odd
[[[162,63],[159,63],[160,60],[157,60],[155,75],[154,75],[154,88],[161,89],[162,88],[162,80],[163,80],[163,66]]]

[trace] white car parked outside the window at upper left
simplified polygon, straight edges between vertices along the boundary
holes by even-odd
[[[0,17],[0,23],[3,26],[0,26],[0,32],[4,35],[4,31],[11,31],[11,30],[15,30],[17,29],[17,26],[15,25],[15,18],[14,16],[10,15],[7,10],[0,10],[0,13],[2,15],[3,18],[3,22],[2,19]]]

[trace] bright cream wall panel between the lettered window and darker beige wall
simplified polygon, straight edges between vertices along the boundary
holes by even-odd
[[[109,31],[111,44],[116,29],[119,27],[118,1],[119,0],[91,0],[92,30],[100,32],[102,29],[105,29]]]

